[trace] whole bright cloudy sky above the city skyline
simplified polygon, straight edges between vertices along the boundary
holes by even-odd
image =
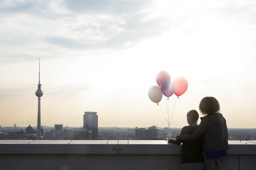
[[[256,128],[256,2],[3,0],[0,125],[181,128],[215,97],[228,128]],[[179,98],[148,97],[160,71],[185,77]],[[200,121],[198,121],[200,123]]]

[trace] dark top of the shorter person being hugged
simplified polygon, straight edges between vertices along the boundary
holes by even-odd
[[[182,134],[191,134],[197,129],[197,126],[184,126],[181,130]],[[170,143],[180,145],[181,148],[181,163],[203,163],[203,135],[194,141],[171,140]]]

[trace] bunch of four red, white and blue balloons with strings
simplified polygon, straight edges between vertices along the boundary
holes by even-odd
[[[173,81],[171,81],[171,76],[166,71],[161,71],[156,75],[156,83],[158,86],[152,86],[149,88],[148,97],[151,101],[153,101],[154,103],[157,103],[157,105],[159,105],[158,103],[162,100],[163,95],[167,97],[167,100],[169,101],[169,97],[171,97],[173,94],[175,94],[179,98],[179,96],[183,95],[188,89],[188,81],[184,77],[177,77]],[[176,101],[175,101],[175,104],[176,104]],[[174,104],[174,107],[175,107],[175,104]],[[161,108],[160,105],[159,107]],[[174,111],[174,107],[173,107],[173,111]],[[166,104],[167,116],[165,116],[162,108],[161,108],[161,111],[168,124],[167,132],[168,132],[168,139],[170,139],[171,120],[170,120],[170,114],[169,114],[169,102]],[[172,112],[172,115],[173,115],[173,112]],[[171,119],[172,119],[172,115],[171,115]]]

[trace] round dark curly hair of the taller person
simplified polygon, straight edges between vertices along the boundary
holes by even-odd
[[[220,104],[214,97],[204,97],[200,104],[199,110],[202,115],[213,115],[220,112]]]

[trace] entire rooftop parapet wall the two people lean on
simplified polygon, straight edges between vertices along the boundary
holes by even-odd
[[[223,169],[254,169],[256,141],[229,141]],[[1,140],[0,169],[181,169],[166,140]]]

